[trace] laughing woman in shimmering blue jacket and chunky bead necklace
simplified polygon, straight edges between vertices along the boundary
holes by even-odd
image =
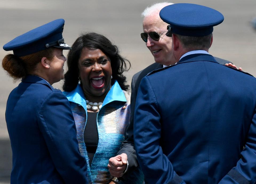
[[[130,65],[129,61],[126,61]],[[130,120],[130,94],[123,72],[128,70],[117,46],[96,33],[81,35],[68,54],[63,85],[74,115],[81,154],[92,183],[143,183],[141,170],[113,178],[109,158],[117,155]],[[128,167],[127,167],[128,165]],[[129,169],[129,163],[122,165]]]

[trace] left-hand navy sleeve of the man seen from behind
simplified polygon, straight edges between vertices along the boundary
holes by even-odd
[[[134,113],[134,143],[145,182],[152,184],[185,183],[159,145],[161,123],[157,99],[147,77],[139,86]]]

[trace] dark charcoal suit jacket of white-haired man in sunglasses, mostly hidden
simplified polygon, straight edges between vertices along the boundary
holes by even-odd
[[[222,64],[225,65],[226,63],[231,63],[230,61],[227,61],[225,59],[214,57],[214,59]],[[135,102],[136,97],[139,89],[139,84],[141,83],[141,80],[143,77],[145,77],[148,73],[150,73],[153,70],[157,70],[162,68],[163,65],[159,63],[153,63],[146,67],[145,69],[139,71],[138,73],[133,75],[133,78],[131,80],[131,113],[130,113],[130,124],[128,125],[126,132],[125,132],[125,141],[122,143],[121,149],[118,151],[118,155],[122,153],[126,153],[128,156],[128,162],[129,162],[129,170],[127,172],[127,176],[129,176],[130,171],[138,167],[137,163],[137,157],[136,157],[136,151],[134,149],[134,140],[133,140],[133,122],[134,122],[134,108],[135,108]],[[124,176],[123,178],[125,178]]]

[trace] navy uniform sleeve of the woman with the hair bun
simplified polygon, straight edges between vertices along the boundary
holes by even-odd
[[[38,113],[38,124],[65,183],[88,183],[86,161],[79,152],[72,111],[62,93],[53,92],[45,99]]]

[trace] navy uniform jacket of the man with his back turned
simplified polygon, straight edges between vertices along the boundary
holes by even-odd
[[[142,79],[135,106],[145,181],[254,183],[256,79],[208,54],[159,70]]]

